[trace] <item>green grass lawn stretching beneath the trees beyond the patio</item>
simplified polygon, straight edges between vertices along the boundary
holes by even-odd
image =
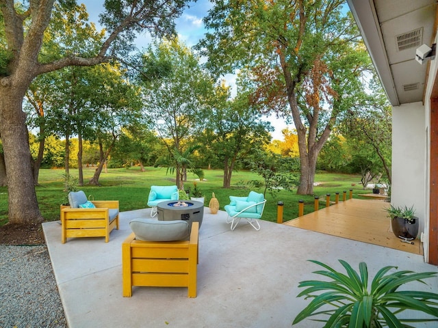
[[[60,204],[65,202],[66,193],[64,192],[64,169],[41,169],[40,185],[36,187],[38,203],[40,210],[46,221],[55,221],[60,218]],[[70,174],[77,176],[77,170],[70,170]],[[94,168],[84,169],[84,182],[88,182],[94,174]],[[196,176],[191,174],[185,186],[193,188],[193,182]],[[211,193],[215,193],[218,198],[220,209],[229,204],[229,195],[244,196],[248,195],[250,189],[245,187],[243,181],[255,180],[257,175],[248,171],[233,172],[231,180],[231,189],[222,188],[223,172],[216,169],[205,169],[205,180],[198,183],[198,188],[205,195],[205,206],[208,206],[211,199]],[[260,179],[261,180],[261,179]],[[314,197],[320,197],[320,207],[326,204],[326,194],[331,194],[331,200],[335,200],[335,193],[339,193],[339,200],[342,200],[343,191],[353,190],[353,197],[359,197],[360,193],[370,193],[370,190],[363,190],[359,183],[359,175],[350,174],[316,174],[315,182],[318,186],[314,187],[315,195],[296,195],[295,191],[279,191],[274,197],[269,193],[266,194],[266,208],[263,213],[263,219],[267,221],[276,221],[277,202],[283,202],[283,219],[288,221],[298,216],[298,200],[305,201],[305,213],[313,211]],[[175,184],[175,176],[166,175],[166,169],[146,167],[146,172],[140,172],[138,167],[129,169],[108,169],[103,172],[99,179],[101,187],[81,187],[86,195],[91,195],[94,200],[119,200],[120,210],[136,210],[145,208],[149,187],[151,185],[169,185]],[[355,184],[352,187],[352,184]],[[252,189],[257,192],[263,190]],[[8,222],[8,189],[0,187],[0,226]]]

